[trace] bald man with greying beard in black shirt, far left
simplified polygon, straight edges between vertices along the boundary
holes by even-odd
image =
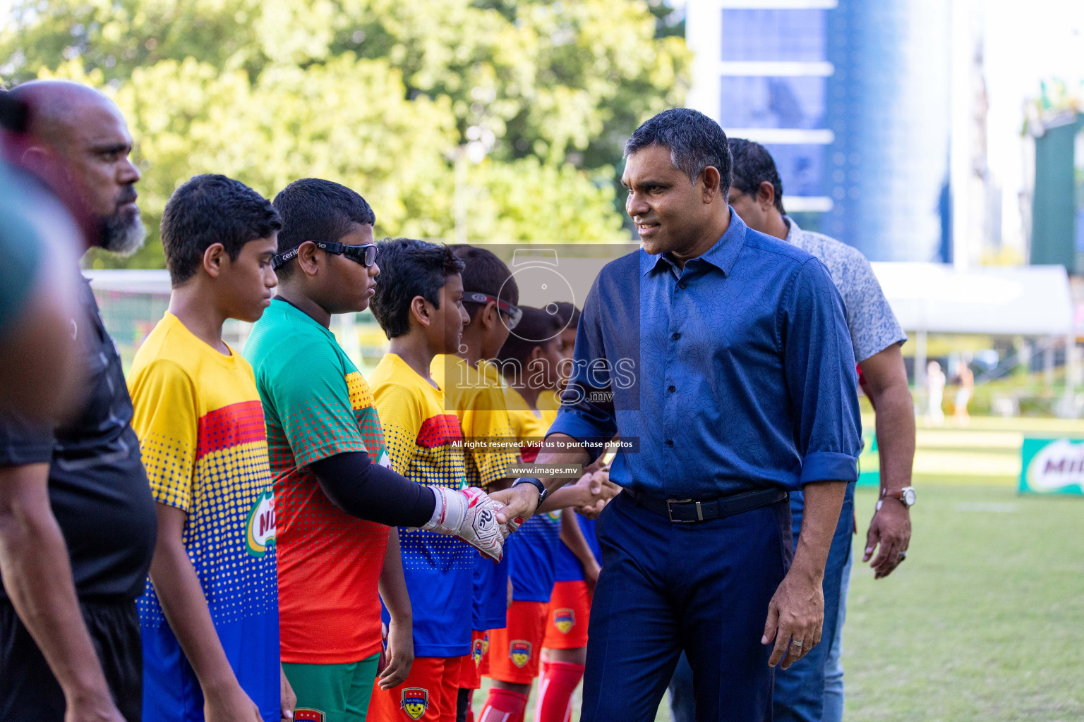
[[[80,250],[138,249],[140,173],[117,106],[55,80],[10,99],[25,104],[28,122],[24,136],[5,139],[5,155],[63,201]],[[0,417],[0,720],[134,722],[136,599],[154,552],[154,501],[120,358],[85,279],[68,329],[83,375],[69,420]]]

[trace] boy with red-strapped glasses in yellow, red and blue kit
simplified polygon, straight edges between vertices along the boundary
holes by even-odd
[[[454,246],[464,263],[463,305],[470,319],[455,353],[433,359],[433,378],[444,392],[446,408],[460,419],[466,439],[486,446],[465,445],[467,484],[490,491],[512,482],[508,469],[518,461],[500,375],[488,362],[515,328],[519,289],[508,267],[492,252],[473,246]],[[506,448],[499,448],[506,444]],[[494,566],[475,560],[472,605],[472,654],[464,657],[460,679],[456,719],[469,719],[472,691],[481,685],[489,666],[490,631],[503,629],[508,602],[508,561]]]

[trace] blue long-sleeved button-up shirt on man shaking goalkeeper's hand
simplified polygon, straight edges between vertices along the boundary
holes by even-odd
[[[824,265],[749,228],[678,267],[643,249],[588,294],[550,433],[615,433],[610,478],[664,498],[857,478],[861,419],[843,303]],[[598,447],[590,449],[593,456]]]

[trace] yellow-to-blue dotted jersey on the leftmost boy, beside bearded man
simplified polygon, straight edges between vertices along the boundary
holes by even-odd
[[[166,313],[137,352],[128,385],[151,494],[188,514],[182,541],[222,648],[242,687],[270,713],[280,675],[275,508],[253,369]],[[150,580],[138,608],[145,704],[166,714],[152,717],[202,708]]]

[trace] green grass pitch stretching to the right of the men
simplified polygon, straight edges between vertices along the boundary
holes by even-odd
[[[1084,424],[919,429],[907,561],[879,581],[856,562],[851,578],[849,722],[1084,720],[1084,497],[1017,495],[1025,433],[1079,436]],[[859,489],[860,560],[875,501]],[[669,722],[666,704],[656,720]]]

